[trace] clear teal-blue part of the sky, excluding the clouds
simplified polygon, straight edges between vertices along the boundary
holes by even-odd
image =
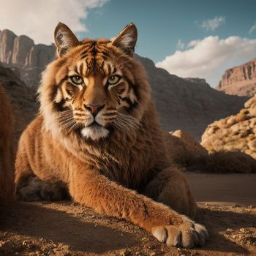
[[[219,16],[225,17],[225,23],[215,31],[200,27],[203,20]],[[210,35],[255,38],[256,30],[248,33],[255,21],[255,0],[111,0],[89,12],[83,21],[89,31],[80,33],[80,37],[113,37],[133,22],[139,32],[136,51],[161,61],[167,54],[175,52],[178,39],[187,44]]]

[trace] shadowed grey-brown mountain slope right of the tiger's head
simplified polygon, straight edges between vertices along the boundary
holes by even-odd
[[[155,67],[150,59],[136,56],[146,69],[162,125],[181,129],[197,140],[213,121],[237,113],[247,97],[227,95],[199,78],[178,78]]]

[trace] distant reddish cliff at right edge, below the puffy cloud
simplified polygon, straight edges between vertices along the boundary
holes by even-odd
[[[216,89],[226,94],[252,97],[256,93],[256,58],[227,69]]]

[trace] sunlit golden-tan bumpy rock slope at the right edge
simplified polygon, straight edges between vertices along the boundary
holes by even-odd
[[[240,151],[256,159],[256,96],[238,114],[208,125],[202,145],[208,151]]]

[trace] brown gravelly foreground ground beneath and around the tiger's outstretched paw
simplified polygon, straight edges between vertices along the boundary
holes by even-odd
[[[196,249],[167,247],[129,222],[68,201],[0,210],[0,255],[256,255],[252,206],[200,204],[199,219],[210,240]]]

